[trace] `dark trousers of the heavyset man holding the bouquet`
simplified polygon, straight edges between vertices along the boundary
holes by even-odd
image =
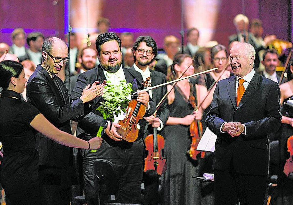
[[[115,194],[117,203],[139,204],[141,201],[141,183],[143,173],[143,142],[142,139],[130,143],[122,140],[103,140],[100,149],[95,152],[81,149],[83,157],[84,191],[88,204],[96,204],[94,189],[93,162],[106,159],[114,163],[119,175],[119,191]],[[101,196],[102,202],[109,202],[109,196]]]

